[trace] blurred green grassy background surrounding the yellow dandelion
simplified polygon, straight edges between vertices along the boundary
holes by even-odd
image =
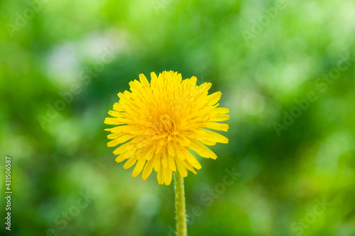
[[[173,184],[132,178],[104,132],[163,70],[231,111],[185,178],[189,235],[355,235],[354,1],[3,0],[0,23],[1,235],[6,155],[11,235],[174,235]]]

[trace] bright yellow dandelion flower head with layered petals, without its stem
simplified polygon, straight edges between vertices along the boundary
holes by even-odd
[[[119,93],[119,102],[109,111],[112,117],[105,124],[116,127],[105,129],[107,146],[121,144],[114,154],[119,163],[127,159],[124,168],[136,163],[132,176],[143,170],[142,179],[154,170],[158,173],[158,183],[169,185],[173,171],[187,176],[187,170],[196,173],[199,161],[189,149],[202,157],[217,159],[206,145],[217,142],[227,144],[228,139],[208,129],[227,131],[228,124],[220,124],[229,119],[229,109],[219,108],[222,92],[208,95],[211,83],[196,85],[195,76],[182,80],[181,74],[164,71],[157,77],[151,73],[151,83],[146,76],[129,82],[130,90]],[[208,129],[204,129],[208,128]]]

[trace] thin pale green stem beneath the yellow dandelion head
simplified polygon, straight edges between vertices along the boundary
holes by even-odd
[[[176,233],[178,236],[187,236],[184,178],[180,175],[179,171],[175,171],[174,173],[174,182]]]

